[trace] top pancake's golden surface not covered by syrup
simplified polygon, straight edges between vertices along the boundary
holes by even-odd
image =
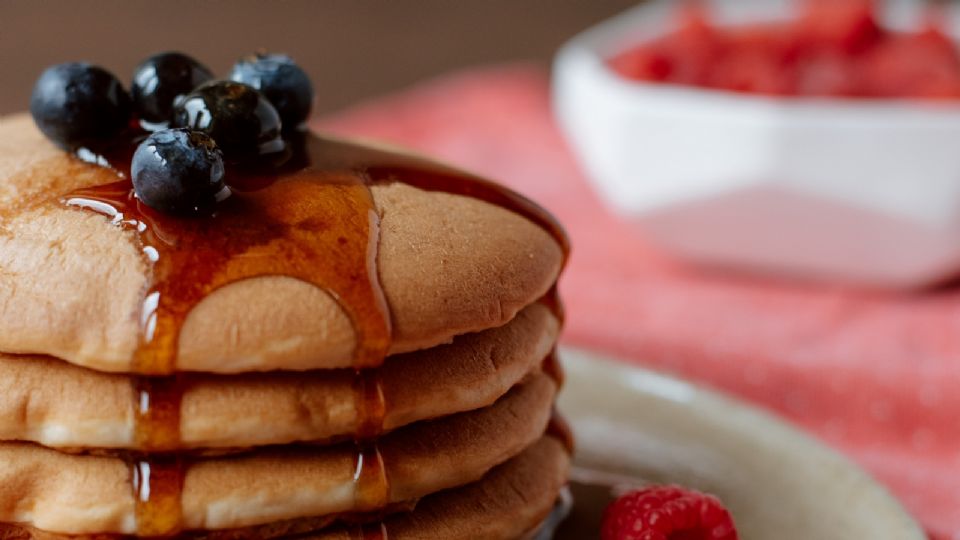
[[[29,116],[0,119],[0,351],[132,370],[150,268],[134,233],[59,202],[115,179],[55,148]],[[518,214],[399,183],[371,192],[380,215],[377,265],[392,315],[391,353],[500,326],[556,280],[561,247]],[[349,367],[355,345],[350,319],[329,293],[292,278],[261,277],[220,288],[192,310],[176,368]]]

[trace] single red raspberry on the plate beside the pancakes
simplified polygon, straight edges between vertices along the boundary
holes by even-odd
[[[730,512],[713,495],[678,486],[631,491],[607,507],[601,540],[737,540]]]

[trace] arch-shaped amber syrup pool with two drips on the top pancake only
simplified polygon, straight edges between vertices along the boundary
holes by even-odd
[[[390,317],[376,274],[379,216],[359,174],[315,166],[309,153],[295,151],[276,168],[231,171],[234,193],[215,213],[181,218],[135,198],[128,155],[105,156],[126,178],[66,201],[134,229],[152,266],[133,371],[174,373],[180,330],[193,308],[221,287],[263,276],[292,277],[329,292],[353,323],[355,365],[382,362]]]

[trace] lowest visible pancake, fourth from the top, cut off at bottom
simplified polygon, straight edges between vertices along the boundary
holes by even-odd
[[[383,520],[390,540],[515,540],[537,527],[553,508],[566,483],[569,456],[563,445],[544,437],[520,455],[494,468],[481,480],[428,495],[412,512]],[[293,537],[356,540],[358,526],[315,531],[326,518],[305,518],[258,527],[184,535],[205,540],[254,540]],[[379,528],[373,524],[373,530]],[[0,524],[2,540],[106,540],[108,535],[65,536],[29,526]]]

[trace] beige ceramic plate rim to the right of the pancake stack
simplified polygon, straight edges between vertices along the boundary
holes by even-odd
[[[651,482],[717,495],[744,540],[926,540],[866,472],[770,413],[591,352],[561,358],[576,502],[557,540],[599,537],[611,486]]]

